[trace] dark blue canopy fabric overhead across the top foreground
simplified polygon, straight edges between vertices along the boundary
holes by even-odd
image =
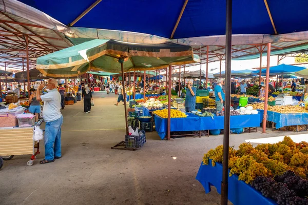
[[[20,2],[69,25],[95,0],[20,0]],[[140,32],[170,38],[184,2],[185,0],[101,1],[73,26]],[[308,24],[306,3],[306,0],[267,1],[276,33],[264,1],[235,0],[232,33],[276,35],[306,31]],[[124,11],[129,11],[129,14]],[[188,1],[173,38],[224,35],[225,18],[225,0]]]

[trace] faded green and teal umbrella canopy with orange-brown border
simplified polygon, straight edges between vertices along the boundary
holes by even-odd
[[[154,70],[200,60],[190,46],[175,43],[131,44],[94,39],[37,58],[36,69],[51,77],[73,77],[90,69],[119,73],[119,58],[124,59],[124,71]]]

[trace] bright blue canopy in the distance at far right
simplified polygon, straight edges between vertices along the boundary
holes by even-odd
[[[269,68],[269,74],[271,74],[271,75],[294,74],[295,72],[301,71],[303,69],[306,69],[306,68],[299,67],[299,66],[281,64],[281,65],[278,65],[278,66],[270,67]],[[259,73],[260,73],[259,70],[252,72],[252,74],[259,74]],[[266,68],[261,70],[261,74],[266,74]]]

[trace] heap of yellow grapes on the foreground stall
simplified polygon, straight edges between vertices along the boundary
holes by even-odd
[[[302,142],[306,145],[306,142]],[[307,147],[301,147],[288,136],[276,144],[261,144],[256,146],[243,143],[238,150],[229,148],[229,175],[237,174],[239,180],[251,183],[257,176],[274,177],[282,175],[287,170],[294,171],[298,176],[307,178],[308,154]],[[212,166],[222,162],[223,146],[209,150],[203,157],[203,165]]]

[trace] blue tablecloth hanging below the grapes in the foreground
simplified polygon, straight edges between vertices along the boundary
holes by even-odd
[[[216,166],[212,167],[211,162],[209,165],[202,165],[201,163],[196,179],[202,184],[205,193],[209,193],[210,186],[214,186],[220,194],[222,164],[216,163]],[[259,191],[247,185],[244,181],[239,181],[236,175],[228,177],[228,199],[235,205],[277,204],[274,200],[262,196]]]

